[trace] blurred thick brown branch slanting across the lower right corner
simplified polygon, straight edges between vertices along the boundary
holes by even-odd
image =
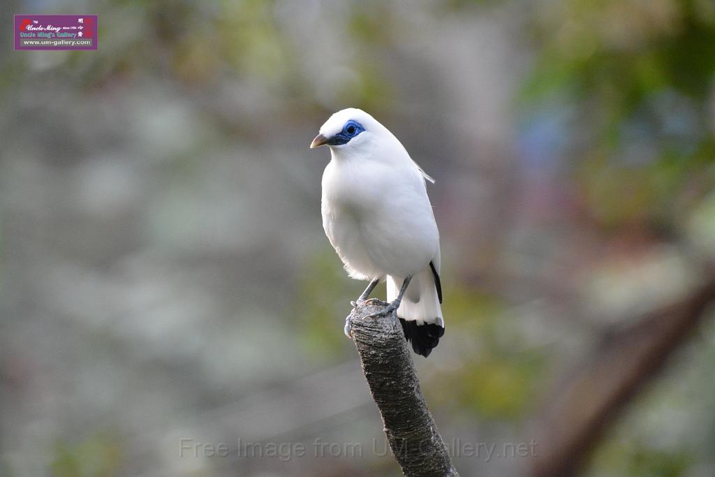
[[[578,473],[608,423],[664,368],[715,301],[715,275],[676,303],[608,335],[588,364],[557,388],[536,421],[533,477]]]

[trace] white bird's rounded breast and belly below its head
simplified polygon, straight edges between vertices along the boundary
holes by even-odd
[[[325,168],[323,227],[352,277],[415,275],[439,248],[423,177],[403,154],[407,160],[333,152]]]

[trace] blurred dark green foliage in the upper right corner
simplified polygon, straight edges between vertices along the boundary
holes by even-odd
[[[669,225],[715,185],[715,4],[564,0],[533,21],[522,99],[576,105],[569,162],[606,227]],[[577,134],[578,133],[578,134]]]

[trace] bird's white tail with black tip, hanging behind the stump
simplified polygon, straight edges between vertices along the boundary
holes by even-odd
[[[400,292],[403,277],[388,275],[388,301],[395,300]],[[412,349],[425,358],[438,345],[445,333],[440,297],[435,284],[435,275],[430,267],[412,277],[403,296],[398,318],[403,325],[405,338],[412,341]]]

